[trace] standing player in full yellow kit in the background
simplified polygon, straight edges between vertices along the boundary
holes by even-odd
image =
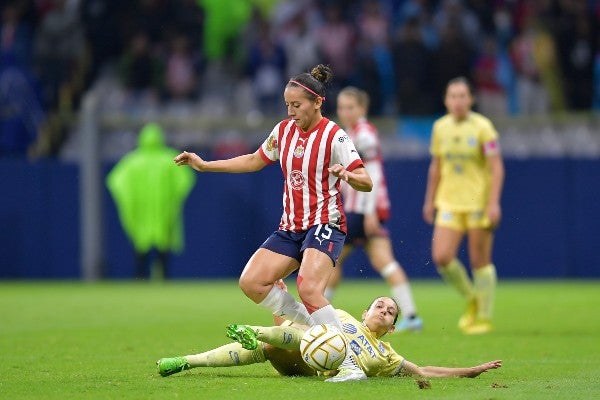
[[[467,301],[459,328],[482,334],[492,330],[492,243],[501,217],[504,164],[494,126],[471,111],[473,95],[465,78],[448,83],[444,102],[448,113],[433,125],[423,217],[431,224],[435,215],[431,250],[439,274]],[[472,281],[457,258],[465,233]]]

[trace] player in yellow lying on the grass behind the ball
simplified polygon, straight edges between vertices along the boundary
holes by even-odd
[[[371,303],[359,321],[343,310],[337,313],[344,323],[344,334],[357,354],[357,362],[366,376],[414,376],[418,378],[469,377],[474,378],[490,369],[500,368],[501,360],[489,361],[468,368],[419,367],[398,354],[381,338],[393,332],[399,310],[389,297],[379,297]],[[288,321],[289,322],[289,321]],[[307,327],[297,324],[281,326],[229,325],[227,335],[239,343],[231,343],[204,353],[162,358],[158,360],[158,373],[168,376],[196,367],[232,367],[262,363],[269,360],[282,375],[311,376],[300,356],[300,341]],[[346,382],[356,377],[337,374],[328,382]],[[419,384],[429,385],[427,381]]]

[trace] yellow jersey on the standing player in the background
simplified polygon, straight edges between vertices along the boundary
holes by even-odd
[[[499,151],[492,122],[471,112],[461,121],[447,114],[433,124],[430,152],[440,159],[435,206],[448,211],[485,209],[491,174],[486,154]]]

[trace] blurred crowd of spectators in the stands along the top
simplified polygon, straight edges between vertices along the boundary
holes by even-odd
[[[465,76],[484,114],[600,109],[593,0],[4,0],[0,156],[58,152],[83,93],[110,71],[119,107],[235,100],[284,115],[318,63],[371,114],[443,112]],[[334,101],[327,101],[327,112]]]

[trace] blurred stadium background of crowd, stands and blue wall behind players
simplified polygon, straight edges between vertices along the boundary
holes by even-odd
[[[345,84],[374,99],[389,228],[411,277],[436,276],[421,218],[427,141],[443,84],[459,74],[506,157],[500,277],[600,277],[593,1],[13,0],[2,10],[0,278],[131,277],[103,180],[141,125],[157,121],[173,147],[207,157],[252,151],[285,115],[285,78],[316,62],[337,76],[329,116]],[[545,57],[528,58],[536,44]],[[237,276],[276,227],[281,184],[276,167],[199,175],[172,277]],[[360,255],[347,272],[375,276]]]

